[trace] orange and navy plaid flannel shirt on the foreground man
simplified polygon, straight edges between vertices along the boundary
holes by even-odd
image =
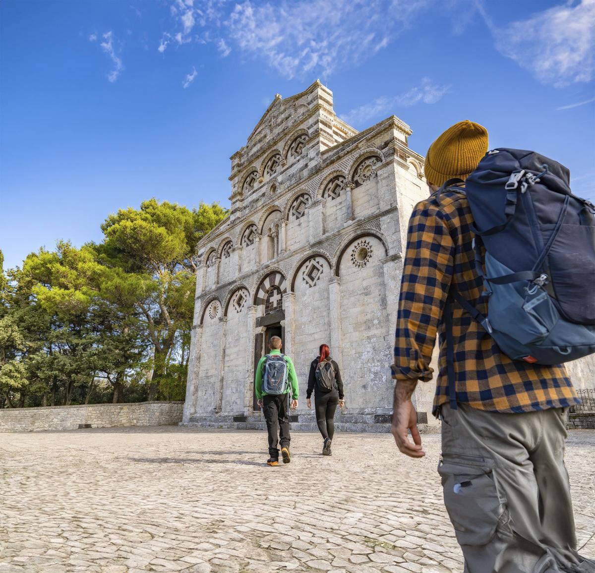
[[[482,314],[483,281],[475,271],[471,208],[462,193],[433,193],[409,221],[394,342],[393,378],[431,380],[439,336],[434,415],[449,401],[443,311],[451,286]],[[491,412],[529,412],[580,403],[563,366],[512,361],[461,305],[453,307],[456,399]]]

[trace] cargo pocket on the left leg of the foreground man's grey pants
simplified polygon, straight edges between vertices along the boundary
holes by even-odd
[[[481,456],[444,453],[440,458],[444,505],[461,545],[486,545],[499,524],[509,521],[491,465]]]

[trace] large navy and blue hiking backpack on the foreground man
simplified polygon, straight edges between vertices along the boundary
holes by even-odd
[[[535,152],[500,148],[487,152],[464,188],[450,187],[460,179],[442,186],[469,201],[488,301],[484,317],[461,293],[449,293],[450,380],[453,301],[513,360],[553,365],[595,352],[595,206],[572,195],[569,176]]]

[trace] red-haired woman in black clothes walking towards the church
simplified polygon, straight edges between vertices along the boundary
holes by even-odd
[[[343,380],[339,365],[331,358],[330,350],[325,344],[320,345],[320,355],[318,355],[310,365],[310,375],[308,377],[308,391],[306,392],[306,404],[312,408],[312,390],[314,390],[314,408],[316,411],[316,423],[318,430],[324,438],[322,445],[322,455],[331,455],[331,443],[334,434],[334,414],[337,404],[342,407],[343,400]]]

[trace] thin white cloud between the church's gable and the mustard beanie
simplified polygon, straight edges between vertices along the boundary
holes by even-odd
[[[435,104],[442,96],[448,92],[450,86],[440,86],[433,83],[430,78],[422,78],[419,86],[412,87],[404,93],[396,96],[382,96],[373,102],[361,105],[352,109],[341,119],[354,126],[361,126],[373,120],[379,120],[382,117],[393,114],[397,107],[408,107],[419,102],[424,104]]]

